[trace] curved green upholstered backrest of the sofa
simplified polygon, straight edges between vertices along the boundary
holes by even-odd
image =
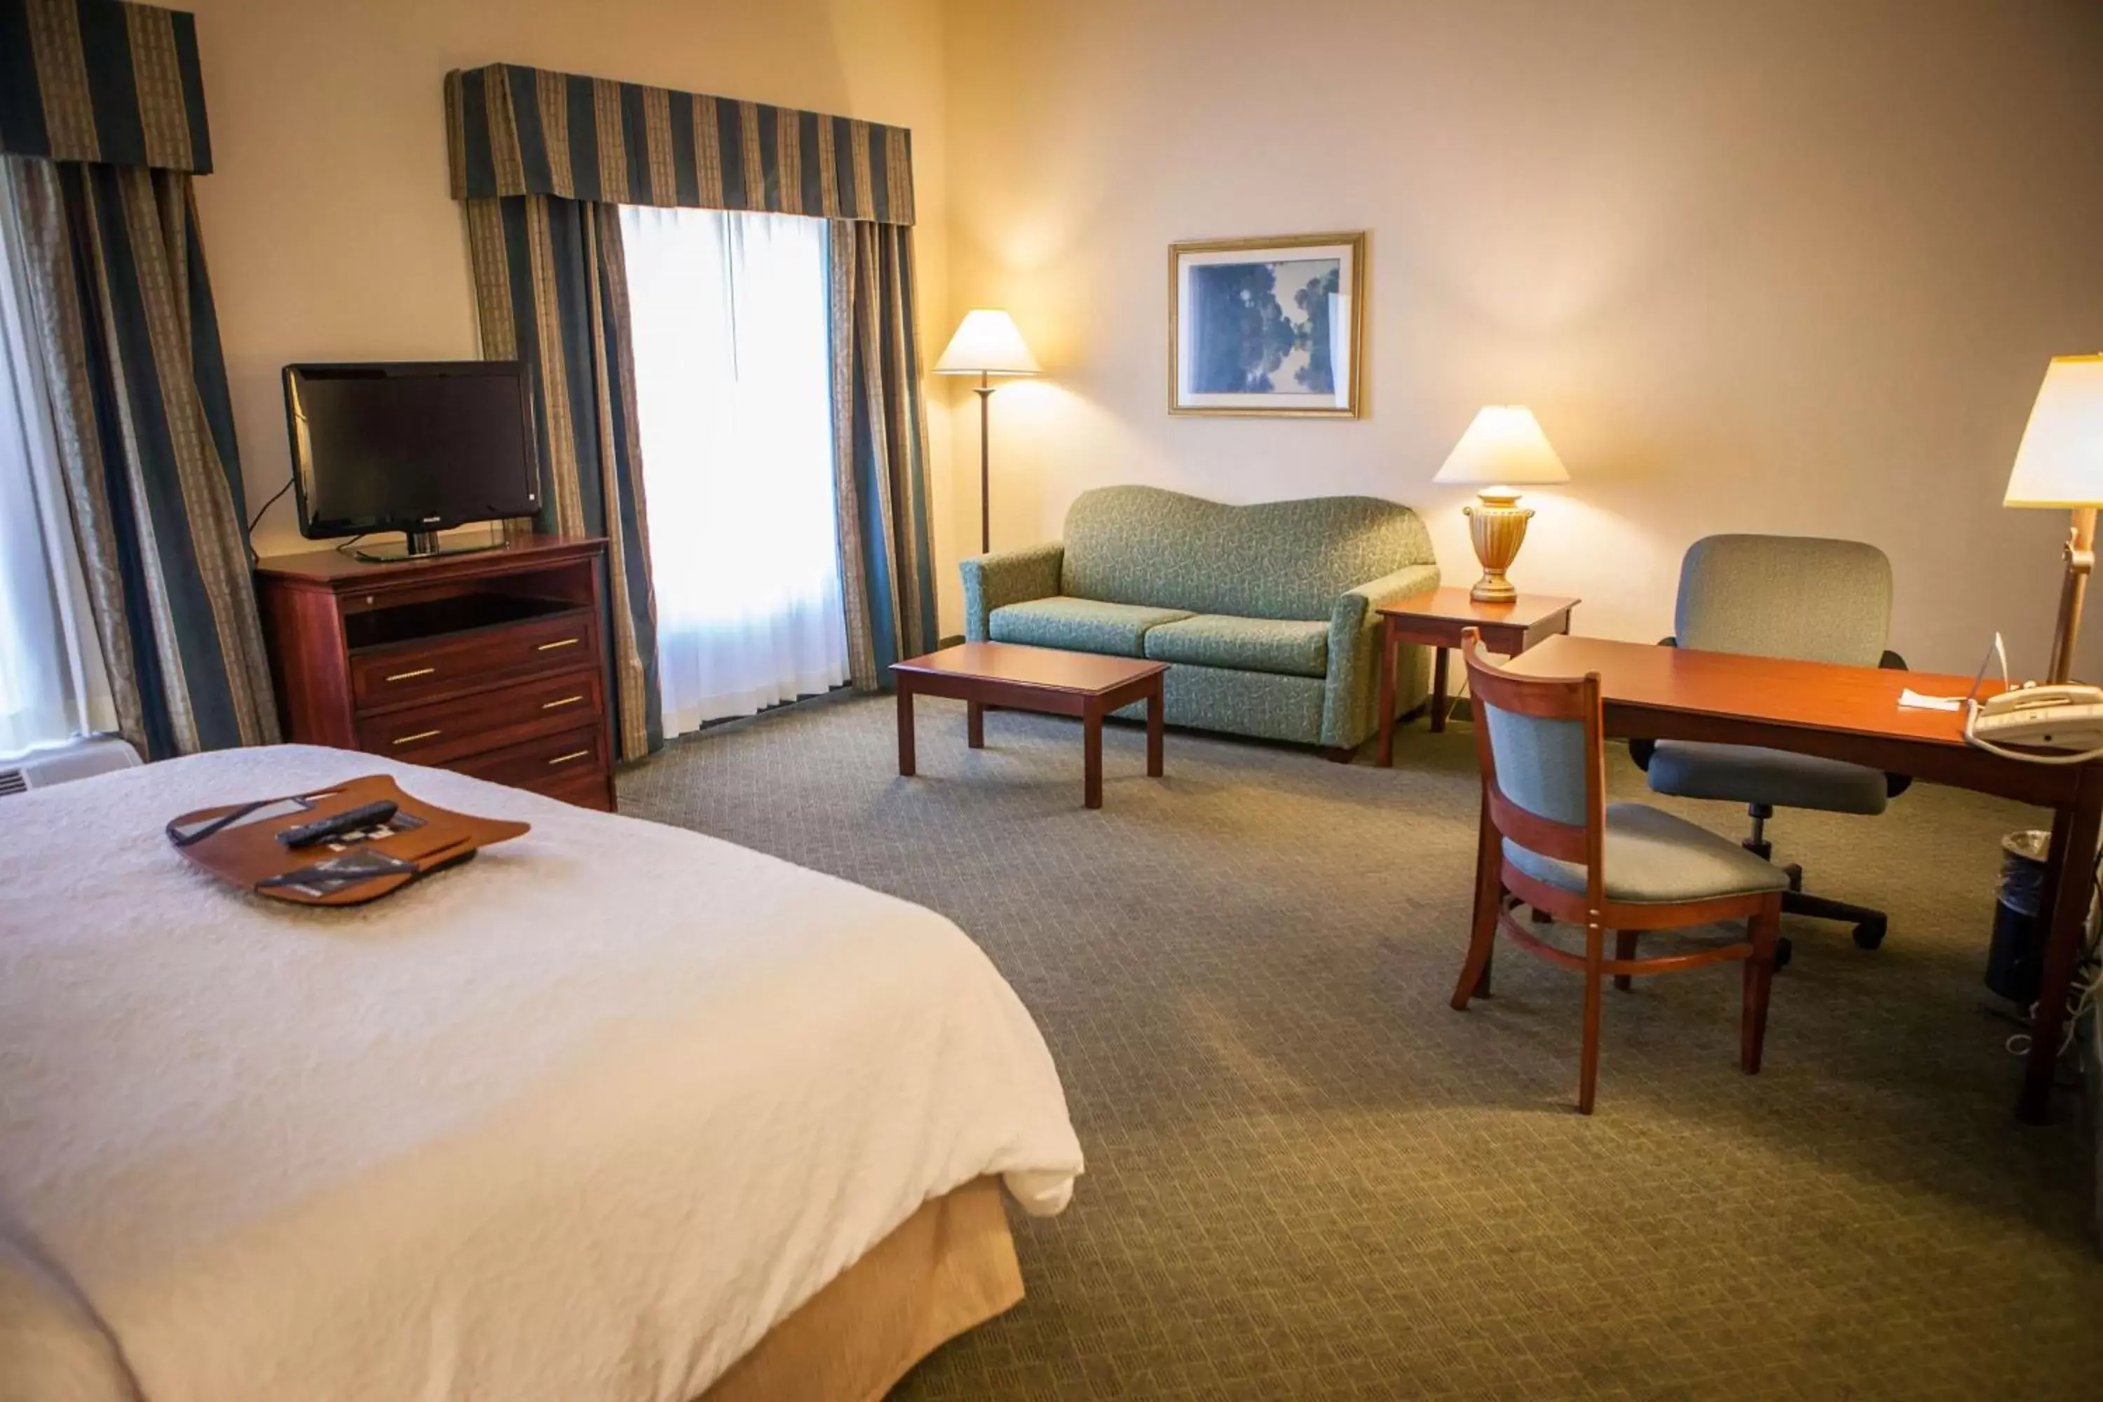
[[[1359,584],[1436,563],[1417,513],[1377,496],[1230,507],[1096,488],[1066,511],[1060,591],[1237,618],[1329,618]]]

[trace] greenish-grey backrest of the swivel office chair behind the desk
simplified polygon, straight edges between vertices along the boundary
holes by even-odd
[[[1708,536],[1687,547],[1680,647],[1876,666],[1891,635],[1891,561],[1861,540]]]

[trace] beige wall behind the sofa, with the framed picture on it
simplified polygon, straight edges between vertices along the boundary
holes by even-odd
[[[1432,523],[1481,404],[1539,414],[1520,586],[1670,631],[1718,530],[1874,540],[1895,645],[2040,671],[2063,517],[2000,492],[2044,362],[2103,349],[2103,21],[2053,0],[1249,0],[948,8],[951,305],[1052,370],[995,399],[995,542],[1152,481]],[[435,156],[433,156],[435,160]],[[1369,416],[1165,412],[1178,238],[1371,231]],[[940,391],[946,397],[946,391]],[[976,536],[955,399],[953,538]],[[944,618],[955,626],[955,582]],[[2090,628],[2090,637],[2097,631]],[[2088,671],[2103,650],[2086,650]]]

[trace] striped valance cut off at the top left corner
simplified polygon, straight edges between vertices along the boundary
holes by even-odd
[[[196,17],[0,0],[0,153],[208,172]]]

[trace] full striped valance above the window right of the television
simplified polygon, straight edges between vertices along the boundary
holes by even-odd
[[[913,135],[492,63],[446,74],[456,200],[562,195],[913,223]]]

